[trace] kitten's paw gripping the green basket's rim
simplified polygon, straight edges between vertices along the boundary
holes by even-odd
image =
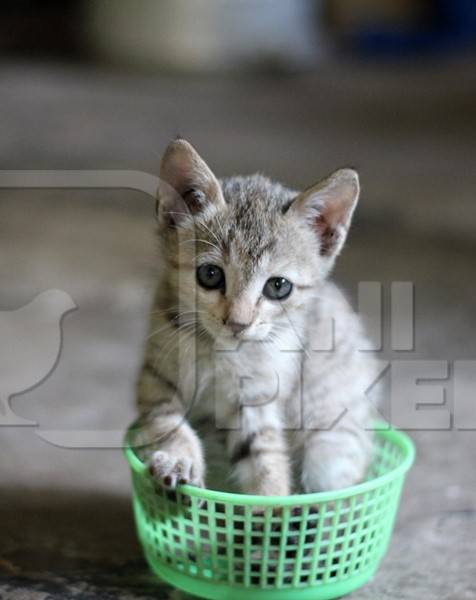
[[[175,489],[179,484],[205,487],[203,474],[187,456],[178,457],[157,450],[149,460],[149,473],[158,483],[169,489]]]

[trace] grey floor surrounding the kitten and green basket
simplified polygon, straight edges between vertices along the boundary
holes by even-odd
[[[355,165],[364,192],[336,278],[352,298],[359,281],[382,282],[386,318],[392,281],[416,290],[415,350],[392,352],[385,335],[382,358],[476,358],[473,63],[278,79],[3,64],[0,78],[3,169],[156,173],[176,133],[222,175],[260,170],[299,186]],[[139,192],[0,190],[0,308],[51,288],[78,305],[57,368],[12,399],[36,426],[0,430],[2,600],[181,597],[142,560],[121,451],[64,447],[81,445],[77,431],[117,440],[133,418],[152,214]],[[430,384],[446,387],[433,410],[456,404],[451,373]],[[470,376],[459,385],[454,426],[412,432],[417,462],[390,550],[357,600],[476,598],[476,432],[458,429],[476,429],[476,397]]]

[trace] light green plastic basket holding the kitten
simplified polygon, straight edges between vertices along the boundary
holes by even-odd
[[[139,539],[153,571],[195,596],[337,598],[363,585],[387,549],[414,446],[376,432],[365,482],[336,492],[248,496],[158,487],[126,438]]]

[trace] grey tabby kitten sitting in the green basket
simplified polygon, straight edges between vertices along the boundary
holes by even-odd
[[[204,486],[191,422],[208,415],[245,493],[358,482],[375,366],[359,352],[357,315],[327,280],[357,173],[341,169],[302,193],[261,175],[218,180],[178,139],[160,181],[159,281],[138,382],[151,472],[172,488]]]

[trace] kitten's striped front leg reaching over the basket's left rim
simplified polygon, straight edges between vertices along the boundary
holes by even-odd
[[[177,483],[204,487],[202,444],[185,418],[180,394],[147,359],[139,377],[137,404],[150,444],[151,474],[171,488]]]

